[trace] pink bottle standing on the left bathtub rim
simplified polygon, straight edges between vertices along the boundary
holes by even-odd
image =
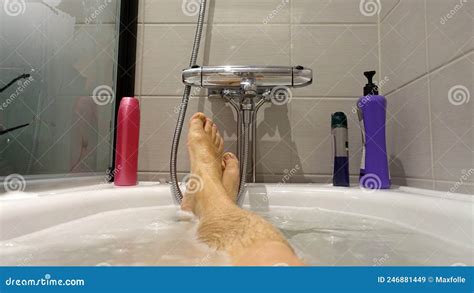
[[[140,104],[135,98],[124,97],[117,117],[116,186],[137,185],[139,135]]]

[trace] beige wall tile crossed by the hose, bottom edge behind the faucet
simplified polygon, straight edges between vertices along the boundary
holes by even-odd
[[[189,66],[194,30],[193,25],[145,25],[139,94],[182,95],[181,72]],[[284,25],[214,25],[203,35],[198,64],[288,65],[289,34]]]

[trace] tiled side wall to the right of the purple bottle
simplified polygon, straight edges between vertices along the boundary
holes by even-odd
[[[474,194],[473,11],[472,0],[400,0],[380,19],[395,183]]]

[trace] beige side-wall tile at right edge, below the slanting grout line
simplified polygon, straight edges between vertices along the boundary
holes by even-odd
[[[464,57],[430,75],[434,171],[438,180],[458,181],[463,171],[474,166],[474,103],[468,100],[474,92],[473,68]]]

